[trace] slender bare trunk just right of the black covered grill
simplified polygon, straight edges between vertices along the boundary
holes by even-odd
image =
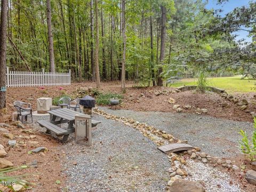
[[[98,21],[98,0],[95,0],[95,27],[96,27],[96,43],[95,43],[95,75],[96,87],[100,88],[100,70],[99,70],[99,21]]]

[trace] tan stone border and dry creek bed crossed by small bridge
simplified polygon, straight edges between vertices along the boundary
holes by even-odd
[[[102,115],[103,117],[105,117],[106,119],[112,119],[114,121],[118,121],[121,123],[124,123],[125,125],[128,125],[134,129],[139,130],[145,137],[147,137],[148,139],[150,139],[151,141],[153,141],[157,146],[162,146],[162,145],[166,145],[169,143],[187,143],[187,140],[180,140],[178,138],[174,138],[173,135],[171,135],[170,133],[167,133],[163,130],[159,130],[154,126],[150,126],[147,125],[146,123],[140,123],[138,121],[134,121],[134,119],[132,118],[126,118],[126,117],[119,117],[119,116],[115,116],[112,114],[108,114],[103,110],[99,110],[98,108],[94,109],[94,114],[98,114],[98,115]],[[212,166],[222,166],[222,167],[227,167],[233,170],[238,170],[239,167],[235,164],[233,164],[233,162],[231,162],[230,160],[222,160],[221,158],[218,157],[213,157],[209,154],[206,154],[204,152],[200,152],[201,149],[199,147],[195,147],[195,149],[193,150],[188,150],[188,151],[184,151],[183,153],[167,153],[167,157],[169,158],[169,161],[171,163],[170,169],[168,170],[170,173],[170,180],[167,183],[167,186],[171,186],[172,183],[177,180],[177,179],[188,179],[188,180],[203,180],[202,178],[193,178],[193,173],[190,173],[189,167],[187,166],[191,166],[191,164],[197,164],[196,166],[193,165],[194,167],[200,166],[202,167],[202,169],[204,170],[209,170],[212,169],[210,172],[218,172],[216,170],[213,170],[213,167],[209,167],[207,164],[212,165]],[[195,162],[192,161],[193,159],[198,159],[200,162]],[[202,163],[201,163],[202,162]],[[189,165],[188,165],[189,164]],[[193,167],[191,166],[191,167]],[[187,171],[186,171],[187,170]],[[225,173],[219,173],[218,174],[225,174]],[[202,173],[202,177],[203,177],[204,173]],[[210,175],[210,174],[209,174]],[[192,177],[192,178],[191,178]],[[195,176],[196,177],[196,176]],[[198,175],[197,175],[198,177]],[[210,176],[209,176],[210,177]],[[226,178],[229,178],[228,175],[225,176]],[[204,177],[203,177],[204,178]],[[211,178],[208,178],[207,180],[214,180],[212,179],[212,175]],[[223,178],[219,178],[219,180],[222,180]],[[208,182],[208,181],[205,182]],[[205,187],[206,188],[212,188],[212,185],[219,185],[219,182],[221,183],[221,181],[214,181],[215,183],[205,183]],[[222,185],[225,186],[223,188],[223,191],[239,191],[239,187],[238,184],[237,185],[233,185],[230,186],[229,185],[229,180],[228,181],[223,181]],[[213,181],[211,181],[213,182]],[[235,183],[235,182],[234,182]]]

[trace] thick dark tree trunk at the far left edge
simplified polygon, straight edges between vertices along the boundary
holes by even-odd
[[[0,23],[0,109],[5,108],[6,102],[6,34],[7,34],[7,7],[8,1],[1,1],[1,23]]]

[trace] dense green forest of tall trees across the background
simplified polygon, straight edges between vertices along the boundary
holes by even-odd
[[[254,38],[241,45],[232,34],[245,26],[254,35],[255,3],[224,18],[218,15],[221,10],[206,10],[206,3],[9,0],[7,66],[71,69],[75,80],[122,80],[122,87],[125,79],[163,85],[173,78],[193,77],[198,70],[214,76],[255,75]]]

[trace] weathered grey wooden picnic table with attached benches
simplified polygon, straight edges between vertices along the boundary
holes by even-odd
[[[78,111],[74,111],[67,108],[55,109],[51,111],[47,111],[50,114],[50,122],[46,120],[39,120],[37,123],[46,128],[46,133],[54,132],[57,136],[62,136],[62,142],[68,140],[68,136],[70,133],[75,132],[74,123],[76,115],[83,115]],[[63,129],[57,125],[68,123],[67,129]],[[97,126],[99,121],[92,120],[92,127]]]

